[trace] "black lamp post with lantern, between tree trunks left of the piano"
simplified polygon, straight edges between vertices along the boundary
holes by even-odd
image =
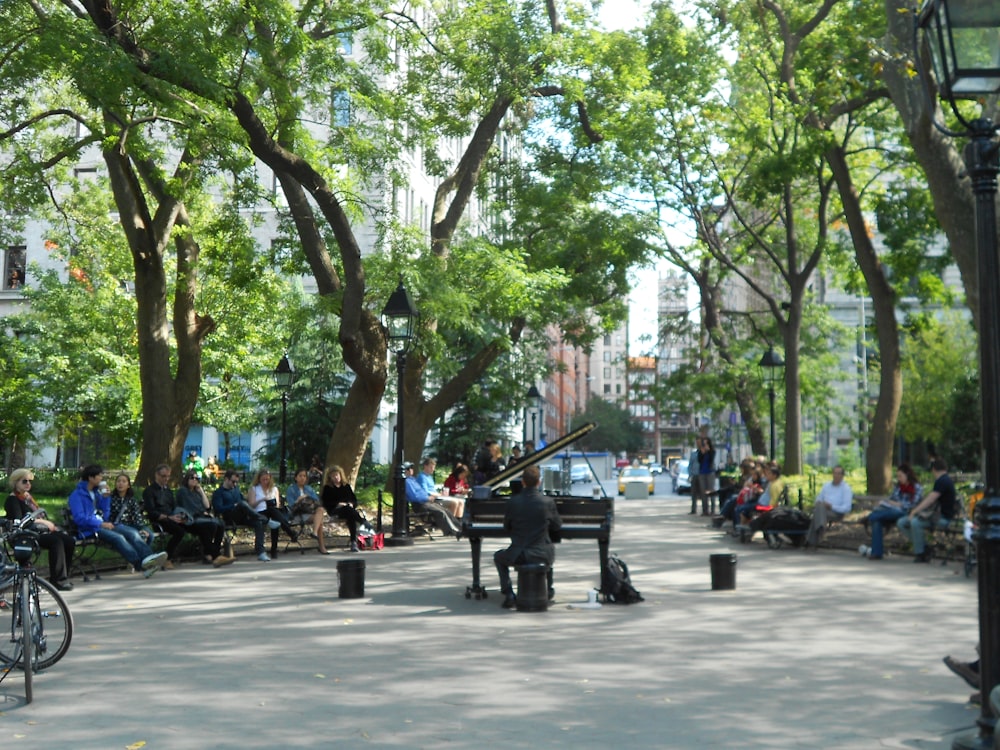
[[[382,325],[390,351],[396,354],[397,403],[396,403],[396,451],[393,454],[395,481],[392,487],[392,536],[386,544],[402,546],[413,544],[413,537],[407,533],[406,523],[406,472],[403,469],[403,374],[406,372],[406,353],[413,341],[413,329],[419,313],[413,306],[410,293],[399,280],[399,286],[382,308]]]

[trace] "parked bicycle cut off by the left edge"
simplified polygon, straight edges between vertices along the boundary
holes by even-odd
[[[34,698],[34,674],[58,662],[73,639],[69,607],[31,562],[39,551],[38,534],[30,528],[36,515],[8,524],[3,541],[13,547],[14,562],[3,561],[0,567],[0,616],[10,614],[9,633],[0,634],[0,681],[20,667],[27,703]]]

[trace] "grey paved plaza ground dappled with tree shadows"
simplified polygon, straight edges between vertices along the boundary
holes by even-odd
[[[0,683],[4,747],[948,748],[975,727],[941,663],[974,658],[959,566],[769,550],[687,498],[616,502],[611,550],[646,601],[570,609],[597,543],[561,544],[547,612],[466,599],[469,543],[105,575],[66,596],[66,657]],[[738,555],[712,591],[710,554]],[[366,563],[339,599],[336,563]]]

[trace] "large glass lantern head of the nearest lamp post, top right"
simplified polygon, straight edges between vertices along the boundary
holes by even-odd
[[[1000,93],[1000,3],[926,0],[917,17],[949,99]]]

